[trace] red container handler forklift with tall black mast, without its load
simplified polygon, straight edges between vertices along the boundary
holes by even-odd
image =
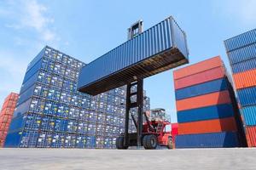
[[[143,20],[138,20],[128,29],[128,40],[137,37],[143,32]],[[126,90],[126,107],[125,107],[125,133],[122,133],[116,139],[116,147],[119,150],[128,149],[129,146],[143,146],[146,150],[154,150],[157,145],[167,146],[172,149],[172,134],[166,133],[166,125],[171,125],[167,121],[148,120],[146,112],[143,112],[143,78],[134,77],[136,82],[127,85]],[[131,89],[137,88],[136,92]],[[136,96],[137,101],[131,103],[131,97]],[[130,113],[131,108],[137,107],[137,120]],[[129,117],[131,114],[132,121],[137,128],[137,133],[129,132]],[[143,123],[143,116],[146,122]]]

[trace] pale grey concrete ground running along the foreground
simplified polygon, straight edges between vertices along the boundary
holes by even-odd
[[[255,170],[256,149],[0,149],[1,170]]]

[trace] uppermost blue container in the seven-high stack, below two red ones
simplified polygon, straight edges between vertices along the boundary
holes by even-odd
[[[175,91],[176,100],[187,99],[199,95],[211,94],[228,89],[228,82],[226,78],[213,80],[211,82],[204,82],[189,88],[181,88]]]

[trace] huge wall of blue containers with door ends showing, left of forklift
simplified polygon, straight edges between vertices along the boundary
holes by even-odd
[[[80,93],[76,87],[83,66],[48,46],[32,60],[6,147],[115,148],[115,139],[125,129],[126,88],[96,96]]]

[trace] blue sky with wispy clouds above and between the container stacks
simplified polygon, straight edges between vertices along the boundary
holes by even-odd
[[[75,3],[74,3],[75,2]],[[127,38],[143,19],[144,30],[172,15],[187,33],[190,63],[221,55],[223,41],[256,28],[256,1],[0,1],[0,104],[19,92],[27,64],[46,44],[89,63]],[[172,71],[144,82],[151,107],[165,108],[176,122]]]

